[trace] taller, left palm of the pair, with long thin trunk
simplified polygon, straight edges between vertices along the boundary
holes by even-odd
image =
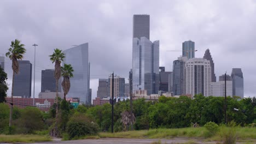
[[[53,55],[50,55],[50,60],[55,63],[55,72],[54,72],[54,77],[55,77],[55,80],[56,80],[56,104],[57,104],[57,107],[56,107],[56,122],[55,122],[55,127],[53,127],[53,129],[51,129],[50,131],[50,135],[51,136],[54,136],[54,137],[59,137],[60,136],[60,133],[59,133],[59,130],[57,128],[57,120],[58,120],[58,109],[59,109],[59,103],[58,103],[58,81],[61,77],[61,62],[63,61],[63,58],[65,58],[65,53],[62,52],[62,50],[60,49],[54,49],[54,53]]]

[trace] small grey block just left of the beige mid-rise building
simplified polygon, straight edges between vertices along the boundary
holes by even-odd
[[[109,80],[108,79],[98,79],[97,97],[100,97],[100,98],[109,97]]]

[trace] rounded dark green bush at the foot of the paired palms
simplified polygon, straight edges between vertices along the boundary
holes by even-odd
[[[98,133],[98,125],[84,114],[77,113],[67,123],[67,133],[69,139],[78,139],[85,135],[95,135]]]

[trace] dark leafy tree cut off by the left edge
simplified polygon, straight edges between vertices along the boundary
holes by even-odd
[[[4,73],[3,69],[0,67],[0,103],[5,102],[5,97],[7,96],[7,74]]]

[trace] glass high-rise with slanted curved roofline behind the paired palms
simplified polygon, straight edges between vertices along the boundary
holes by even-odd
[[[63,51],[65,58],[62,64],[71,64],[73,67],[74,77],[70,78],[71,87],[67,94],[67,98],[79,98],[80,103],[88,104],[89,101],[89,84],[90,84],[90,67],[88,43],[74,46]]]

